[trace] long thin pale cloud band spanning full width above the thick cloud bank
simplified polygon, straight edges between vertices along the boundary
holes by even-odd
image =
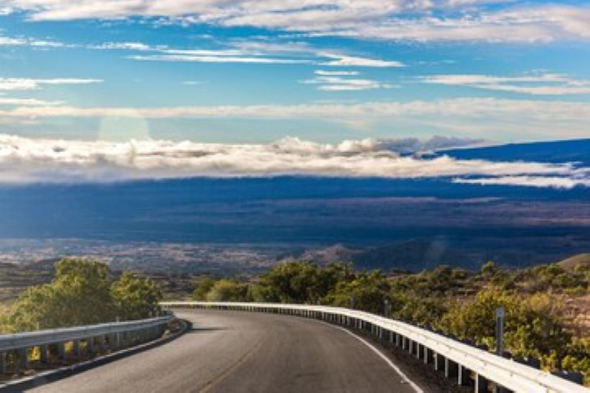
[[[2,86],[0,84],[0,86]],[[0,88],[1,90],[1,88]],[[462,118],[524,116],[541,121],[588,122],[590,103],[571,101],[453,98],[438,101],[374,102],[360,104],[220,105],[188,107],[31,107],[0,111],[5,117],[243,117],[243,118],[340,118],[435,115]]]

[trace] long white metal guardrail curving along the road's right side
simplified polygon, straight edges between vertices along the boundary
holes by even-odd
[[[382,340],[401,346],[422,359],[425,364],[433,364],[435,369],[444,370],[445,376],[457,378],[458,384],[472,384],[478,393],[487,392],[490,385],[494,386],[495,391],[508,389],[527,393],[590,392],[590,389],[556,375],[502,358],[427,329],[368,312],[329,306],[277,303],[163,302],[160,305],[165,308],[214,308],[283,313],[365,329]]]

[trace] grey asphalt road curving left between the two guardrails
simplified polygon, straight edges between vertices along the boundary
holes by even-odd
[[[418,391],[367,342],[320,321],[248,312],[176,314],[192,321],[192,331],[32,391]]]

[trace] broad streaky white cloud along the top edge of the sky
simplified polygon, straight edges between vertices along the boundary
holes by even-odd
[[[500,7],[490,6],[504,3]],[[311,35],[411,41],[539,42],[590,38],[588,5],[503,0],[0,0],[32,20],[162,18]]]

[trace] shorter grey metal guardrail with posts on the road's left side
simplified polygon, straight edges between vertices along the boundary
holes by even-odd
[[[6,372],[6,354],[16,351],[18,368],[27,368],[28,349],[38,347],[41,362],[48,359],[50,345],[57,345],[59,358],[64,358],[66,342],[74,343],[74,352],[80,352],[80,342],[87,343],[89,352],[96,352],[95,344],[100,351],[117,349],[130,341],[149,341],[162,335],[164,326],[172,319],[172,315],[138,321],[111,322],[100,325],[76,326],[73,328],[48,329],[41,331],[22,332],[0,335],[0,374]]]

